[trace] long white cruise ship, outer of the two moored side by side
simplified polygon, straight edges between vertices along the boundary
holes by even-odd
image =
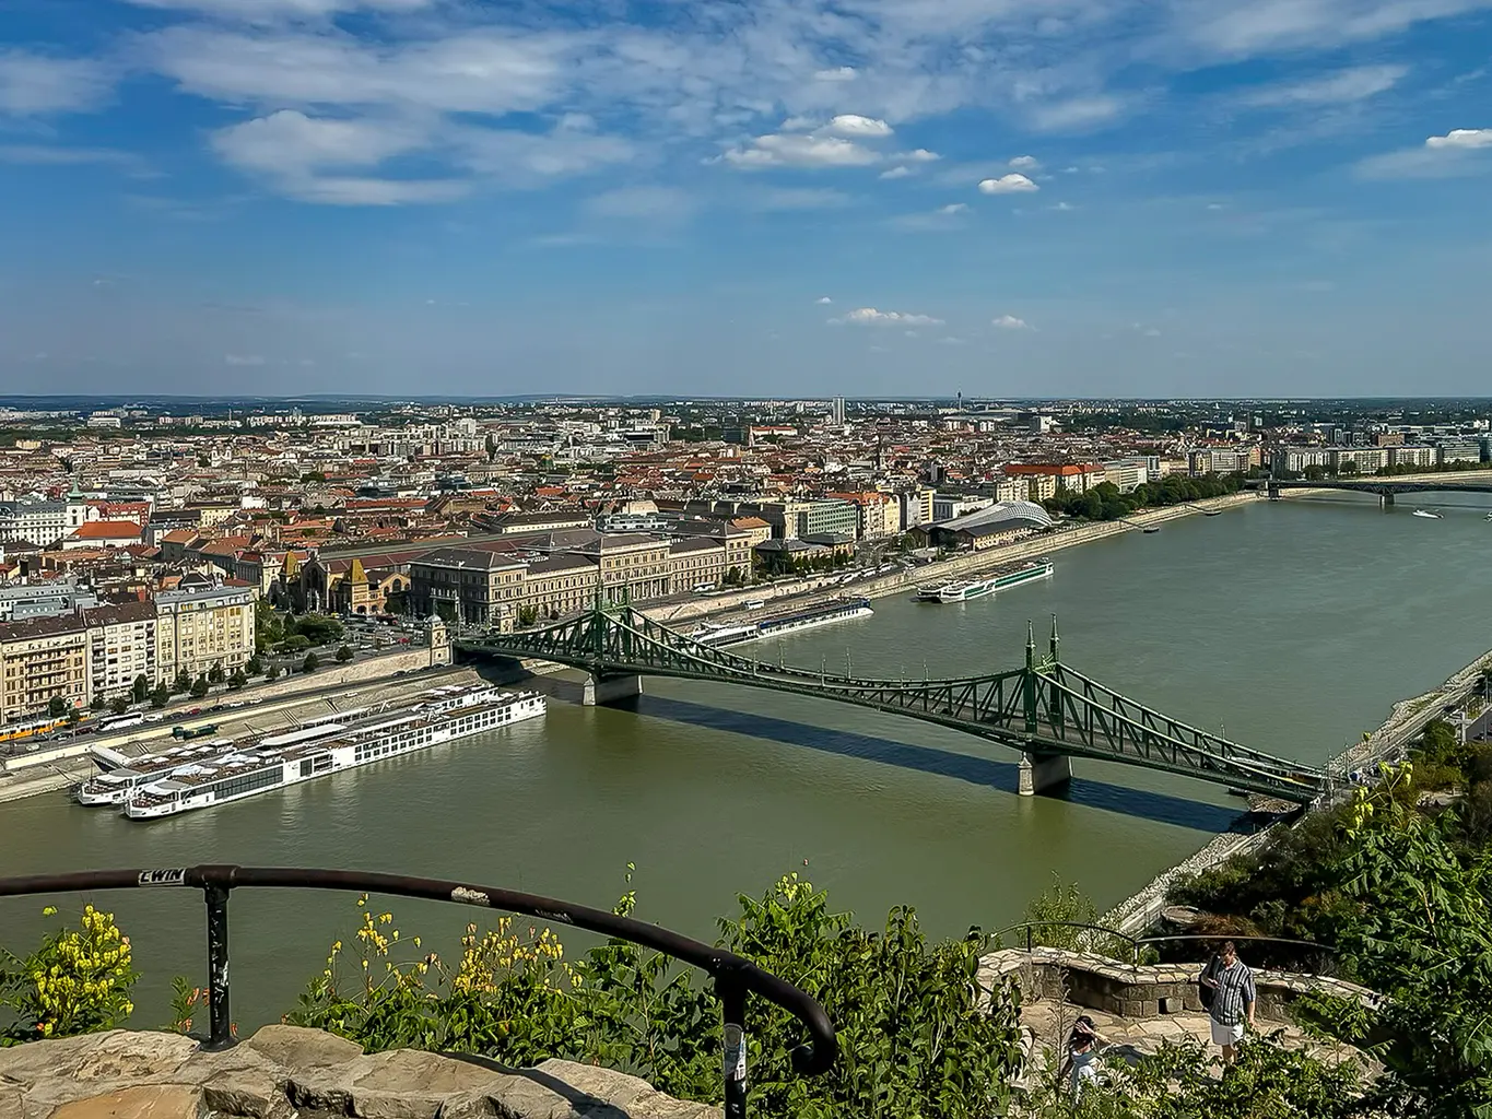
[[[210,809],[545,713],[540,692],[437,688],[433,695],[434,700],[351,725],[303,727],[260,739],[254,749],[230,749],[210,761],[188,764],[131,789],[124,800],[124,815],[158,819]]]

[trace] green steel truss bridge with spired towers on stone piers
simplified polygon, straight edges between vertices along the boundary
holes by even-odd
[[[1144,707],[1058,659],[1056,618],[1046,655],[1028,628],[1025,664],[959,679],[886,680],[762,662],[716,649],[622,601],[521,633],[467,634],[467,655],[540,659],[589,674],[586,703],[637,695],[643,676],[765,688],[850,703],[976,734],[1019,750],[1021,792],[1071,777],[1071,758],[1098,758],[1306,804],[1325,771],[1262,753]]]

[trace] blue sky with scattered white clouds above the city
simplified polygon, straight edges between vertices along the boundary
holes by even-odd
[[[0,392],[1489,394],[1492,0],[0,0]]]

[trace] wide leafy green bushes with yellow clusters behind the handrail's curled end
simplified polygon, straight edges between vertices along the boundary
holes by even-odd
[[[366,898],[360,906],[366,907]],[[628,892],[616,912],[630,915]],[[1004,992],[976,1003],[982,938],[928,944],[916,916],[894,909],[882,932],[833,913],[797,876],[764,897],[740,898],[721,922],[722,946],[797,983],[839,1028],[840,1059],[824,1077],[791,1070],[801,1026],[750,1001],[750,1113],[774,1119],[883,1116],[986,1119],[1004,1109],[1019,1059],[1016,1006]],[[482,1053],[504,1064],[549,1056],[634,1071],[659,1091],[719,1101],[721,1007],[698,973],[610,940],[567,962],[549,930],[527,934],[510,918],[467,928],[458,962],[397,959],[392,915],[364,909],[352,979],[343,947],[289,1021],[352,1037],[370,1049],[419,1046]]]

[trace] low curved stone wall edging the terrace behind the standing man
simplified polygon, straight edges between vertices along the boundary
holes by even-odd
[[[1028,1001],[1065,1000],[1120,1018],[1159,1018],[1203,1010],[1197,991],[1201,970],[1201,962],[1131,967],[1091,952],[1006,949],[980,959],[979,983],[991,989],[1001,982],[1016,982]],[[1262,1022],[1292,1021],[1291,1006],[1308,991],[1355,998],[1365,1004],[1377,998],[1367,988],[1341,979],[1265,968],[1253,970],[1253,986],[1259,995],[1255,1015]]]

